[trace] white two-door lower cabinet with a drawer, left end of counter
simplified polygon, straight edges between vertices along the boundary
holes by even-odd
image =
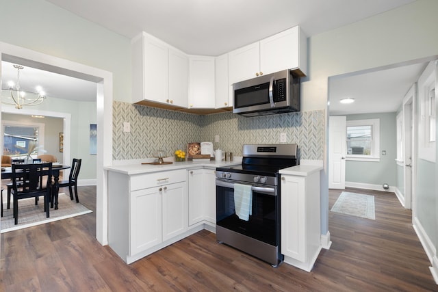
[[[110,247],[132,263],[181,239],[188,230],[187,191],[186,170],[108,172]]]

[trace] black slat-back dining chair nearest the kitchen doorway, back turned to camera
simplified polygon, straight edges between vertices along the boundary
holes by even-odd
[[[18,200],[24,198],[35,198],[35,204],[38,204],[38,198],[44,196],[44,212],[46,217],[50,217],[50,196],[51,196],[51,177],[52,163],[36,164],[13,164],[12,165],[12,190],[14,197],[14,220],[18,224]],[[22,181],[19,178],[24,178]],[[42,181],[46,178],[44,187]]]

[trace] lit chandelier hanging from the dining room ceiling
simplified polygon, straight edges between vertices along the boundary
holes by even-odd
[[[14,105],[16,109],[22,109],[25,105],[40,105],[44,99],[46,99],[46,94],[42,91],[42,88],[38,86],[36,88],[36,93],[21,90],[20,70],[23,70],[24,67],[14,65],[14,68],[17,70],[16,83],[14,83],[14,81],[8,82],[10,96],[2,97],[2,102],[6,105]]]

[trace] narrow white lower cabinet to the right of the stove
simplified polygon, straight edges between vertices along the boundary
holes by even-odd
[[[281,175],[281,254],[311,271],[321,250],[320,172]]]

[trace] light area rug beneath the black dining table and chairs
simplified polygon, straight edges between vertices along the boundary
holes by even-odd
[[[75,217],[92,211],[84,207],[81,203],[76,203],[76,200],[70,200],[70,196],[65,193],[60,193],[58,196],[58,208],[50,209],[50,217],[46,217],[44,212],[44,200],[40,198],[40,203],[35,205],[35,198],[18,200],[18,224],[14,224],[14,218],[12,217],[12,200],[11,209],[6,209],[6,202],[3,200],[3,217],[1,217],[1,233],[7,233],[8,231],[27,228],[30,226],[36,226],[62,220],[70,217]]]

